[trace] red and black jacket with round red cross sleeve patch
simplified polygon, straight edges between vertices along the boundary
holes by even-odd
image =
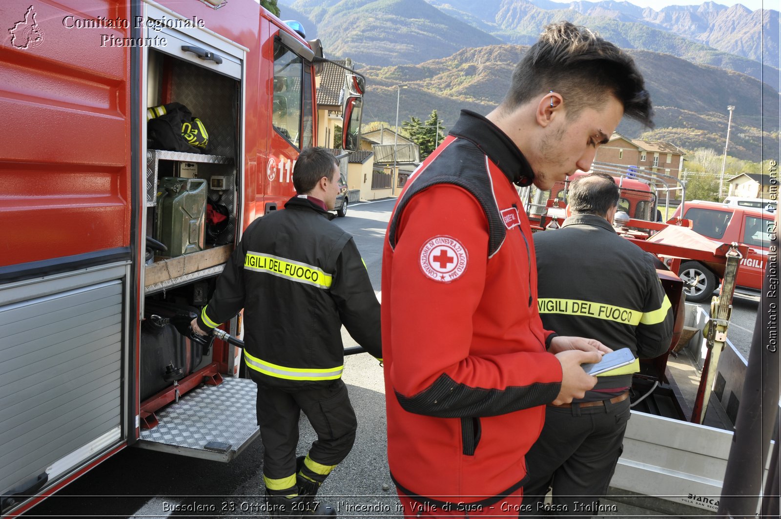
[[[531,229],[512,182],[530,177],[493,123],[462,111],[405,186],[383,247],[388,462],[431,503],[495,503],[561,388],[537,313]]]

